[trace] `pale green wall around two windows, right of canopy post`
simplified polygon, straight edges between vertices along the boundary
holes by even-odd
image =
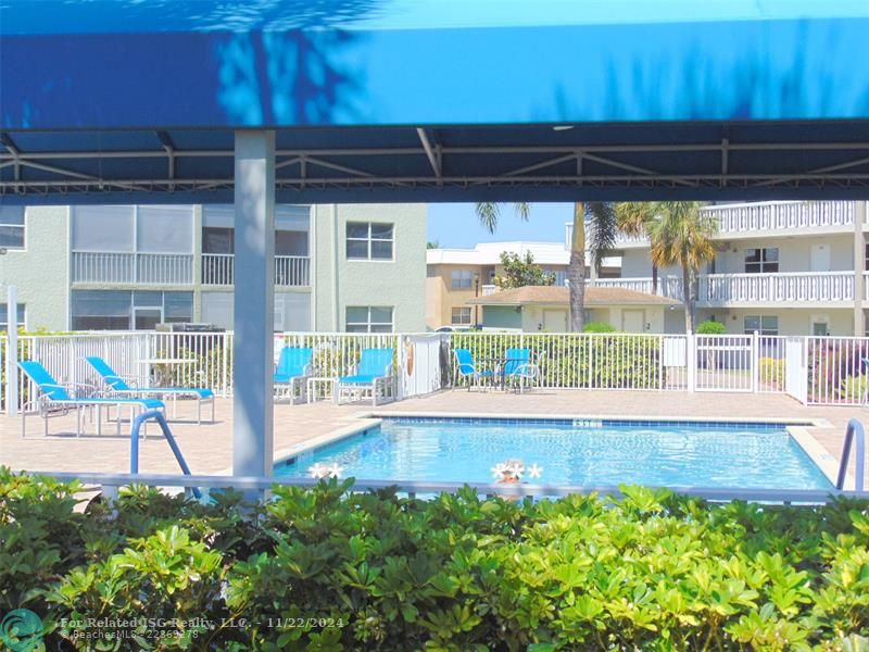
[[[314,208],[316,330],[343,330],[348,305],[392,306],[396,331],[426,329],[426,213],[425,204]],[[348,222],[394,224],[393,260],[348,260]]]

